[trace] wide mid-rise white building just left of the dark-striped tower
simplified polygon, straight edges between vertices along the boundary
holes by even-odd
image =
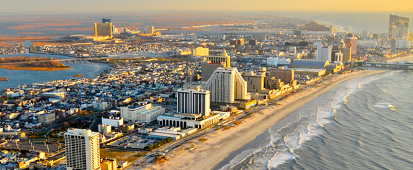
[[[120,117],[127,121],[142,121],[149,123],[163,114],[165,114],[165,108],[161,106],[152,106],[152,103],[137,104],[131,107],[120,108]]]

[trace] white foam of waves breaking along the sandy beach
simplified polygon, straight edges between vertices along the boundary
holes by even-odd
[[[270,170],[289,160],[297,159],[300,155],[295,151],[302,147],[305,142],[325,133],[325,125],[331,123],[331,118],[339,114],[337,110],[346,104],[346,98],[348,96],[361,90],[363,85],[383,77],[386,76],[376,75],[363,79],[361,83],[359,80],[351,80],[344,85],[337,86],[339,89],[337,89],[336,94],[333,95],[332,101],[316,103],[316,111],[311,113],[304,111],[298,116],[299,119],[288,123],[282,128],[277,130],[275,130],[274,127],[269,128],[270,141],[267,145],[244,151],[234,157],[230,163],[221,168],[221,170],[234,169],[235,166],[241,163],[248,164],[248,167],[252,166],[253,169],[267,168]],[[386,103],[386,106],[389,106],[389,104],[390,103]],[[307,114],[309,114],[309,116]],[[294,126],[295,129],[291,129],[294,128]],[[288,129],[293,131],[288,131]],[[288,134],[285,134],[285,131],[288,131]]]

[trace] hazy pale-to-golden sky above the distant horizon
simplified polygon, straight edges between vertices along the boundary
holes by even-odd
[[[1,14],[132,11],[412,11],[413,0],[0,0]]]

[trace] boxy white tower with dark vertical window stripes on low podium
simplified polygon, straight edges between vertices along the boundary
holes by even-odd
[[[177,91],[177,112],[201,114],[208,117],[210,94],[208,90],[200,88],[180,88]]]

